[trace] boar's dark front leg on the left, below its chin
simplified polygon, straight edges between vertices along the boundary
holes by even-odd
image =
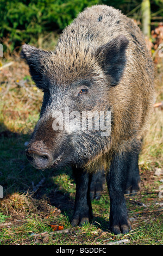
[[[90,174],[83,169],[72,168],[76,179],[76,199],[74,214],[71,224],[73,226],[89,223],[92,217],[92,206],[90,199]]]

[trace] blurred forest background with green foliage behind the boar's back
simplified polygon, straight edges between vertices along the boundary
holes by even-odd
[[[18,51],[24,42],[52,50],[62,29],[93,4],[121,9],[148,38],[152,35],[151,48],[163,40],[162,0],[1,0],[0,43],[4,54]]]

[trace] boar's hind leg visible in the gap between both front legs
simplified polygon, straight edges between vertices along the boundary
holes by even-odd
[[[96,173],[91,175],[91,184],[90,184],[90,197],[91,199],[99,199],[101,198],[101,194],[104,190],[105,186],[105,172],[103,170],[99,170]]]

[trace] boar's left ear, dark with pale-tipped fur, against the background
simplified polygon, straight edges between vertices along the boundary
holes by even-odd
[[[36,86],[45,90],[43,85],[43,71],[45,70],[45,60],[49,52],[40,50],[34,46],[24,44],[22,46],[21,58],[29,65],[29,72],[36,83]]]

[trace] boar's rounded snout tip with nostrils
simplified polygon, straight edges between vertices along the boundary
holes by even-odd
[[[47,150],[28,148],[26,149],[26,156],[36,169],[46,169],[53,162],[53,157]]]

